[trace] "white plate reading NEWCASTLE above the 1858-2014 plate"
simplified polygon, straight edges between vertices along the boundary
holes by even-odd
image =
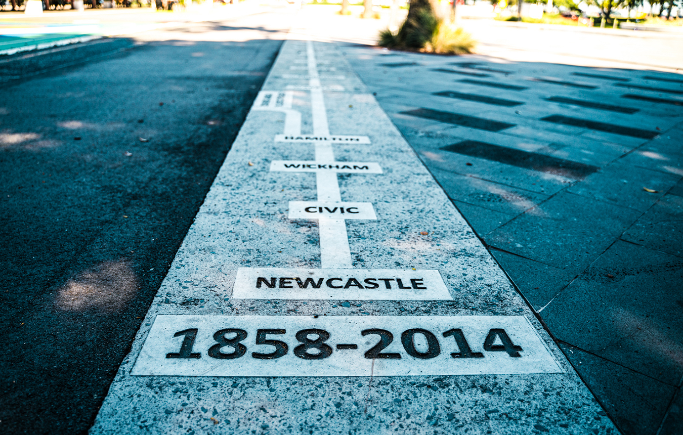
[[[452,300],[438,270],[239,268],[237,299]]]

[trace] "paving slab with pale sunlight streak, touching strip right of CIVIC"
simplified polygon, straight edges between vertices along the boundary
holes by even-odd
[[[547,195],[540,193],[523,191],[436,168],[431,168],[431,171],[449,198],[510,215],[505,222],[548,198]]]

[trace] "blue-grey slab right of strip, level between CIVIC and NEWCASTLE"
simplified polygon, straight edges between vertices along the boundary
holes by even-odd
[[[579,272],[640,215],[636,210],[560,192],[493,231],[486,242]]]

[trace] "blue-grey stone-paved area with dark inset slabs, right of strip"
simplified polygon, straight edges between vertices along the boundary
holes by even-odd
[[[344,51],[617,427],[682,433],[683,75]]]

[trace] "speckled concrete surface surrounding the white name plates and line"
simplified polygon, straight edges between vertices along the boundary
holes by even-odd
[[[316,201],[316,175],[269,171],[271,160],[313,160],[313,145],[275,142],[275,135],[283,133],[285,115],[251,111],[111,385],[91,434],[616,433],[609,419],[600,419],[602,408],[339,55],[338,46],[322,42],[313,46],[320,64],[333,64],[334,74],[345,77],[320,79],[323,87],[344,87],[344,92],[324,92],[330,132],[367,135],[372,142],[335,144],[336,160],[376,162],[383,171],[337,176],[342,201],[370,202],[378,218],[346,223],[352,267],[436,269],[453,300],[232,299],[240,267],[320,268],[318,223],[291,221],[287,210],[289,201]],[[306,55],[305,42],[285,42],[262,89],[307,86],[308,77],[285,75],[292,74],[290,67],[301,65]],[[310,101],[309,92],[294,91],[292,108],[302,113],[304,133],[312,129]],[[159,314],[310,316],[311,325],[316,318],[334,315],[363,316],[365,321],[387,315],[520,315],[533,325],[563,372],[132,376],[131,369]],[[206,333],[201,322],[197,328]],[[176,348],[180,345],[180,339],[170,339]],[[253,346],[249,340],[245,343],[247,348]],[[472,346],[473,351],[482,352],[480,344]],[[419,364],[418,359],[414,362]]]

